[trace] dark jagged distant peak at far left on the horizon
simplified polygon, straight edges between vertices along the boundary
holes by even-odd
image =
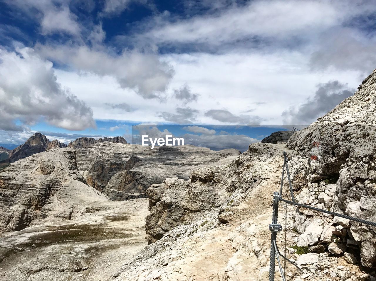
[[[33,134],[24,144],[16,147],[9,153],[9,161],[11,163],[18,159],[26,158],[35,153],[43,152],[49,146],[50,141],[41,133]]]

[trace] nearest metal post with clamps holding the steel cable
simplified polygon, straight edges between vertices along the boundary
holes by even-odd
[[[276,265],[276,252],[277,249],[274,247],[274,241],[277,239],[277,231],[282,230],[282,225],[278,224],[278,201],[279,193],[274,192],[273,198],[273,217],[271,219],[271,224],[269,224],[269,230],[271,231],[271,243],[270,243],[270,262],[269,262],[269,281],[274,281],[274,271]]]

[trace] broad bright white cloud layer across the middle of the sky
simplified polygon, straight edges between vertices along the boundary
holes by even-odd
[[[347,83],[350,88],[356,88],[364,79],[358,71],[312,71],[309,56],[287,50],[275,54],[262,51],[220,55],[174,54],[165,55],[161,60],[168,62],[175,71],[166,90],[169,95],[173,89],[179,89],[185,83],[190,85],[192,92],[200,94],[197,102],[190,104],[192,110],[197,110],[188,112],[189,116],[186,117],[190,120],[183,118],[183,112],[176,111],[177,107],[181,107],[180,101],[145,100],[132,90],[121,89],[112,76],[63,70],[55,72],[59,83],[69,87],[74,95],[93,109],[95,119],[163,123],[166,117],[169,122],[185,120],[212,125],[223,123],[205,116],[205,112],[223,108],[235,116],[259,116],[263,125],[281,125],[281,113],[291,105],[306,102],[316,92],[317,84],[338,80],[342,84]],[[130,113],[120,108],[111,109],[105,103],[125,103],[129,109],[135,110]],[[250,108],[254,110],[244,114]]]

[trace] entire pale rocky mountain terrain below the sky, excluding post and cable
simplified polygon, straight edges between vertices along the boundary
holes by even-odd
[[[354,96],[294,133],[287,144],[255,143],[239,155],[190,145],[151,150],[118,143],[122,140],[82,140],[72,145],[86,147],[21,159],[0,172],[3,231],[23,229],[0,237],[0,257],[5,257],[1,270],[6,271],[1,276],[43,281],[62,274],[72,280],[267,280],[268,224],[272,195],[280,188],[282,152],[307,158],[291,160],[297,201],[376,221],[375,125],[376,71]],[[286,173],[282,180],[282,196],[289,198]],[[121,213],[125,206],[127,219]],[[286,279],[374,279],[374,228],[279,206],[284,231],[277,233],[277,245],[302,267],[300,272],[283,265]],[[56,223],[54,228],[46,226],[49,222]],[[138,238],[129,239],[135,228]],[[144,231],[149,245],[143,248],[139,236]],[[43,233],[53,242],[40,251]],[[61,236],[64,241],[57,242]],[[83,240],[75,240],[77,236]],[[127,249],[124,255],[124,244],[135,245],[137,251]],[[33,247],[38,249],[30,258]],[[9,258],[9,248],[19,255]],[[113,263],[117,272],[108,270]],[[276,267],[276,280],[281,274]]]

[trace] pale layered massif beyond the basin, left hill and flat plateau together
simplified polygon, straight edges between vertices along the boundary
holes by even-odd
[[[150,184],[170,175],[188,175],[207,164],[228,163],[238,153],[194,146],[151,150],[108,141],[85,149],[37,153],[0,172],[0,229],[15,231],[35,221],[71,219],[93,200],[144,198]]]

